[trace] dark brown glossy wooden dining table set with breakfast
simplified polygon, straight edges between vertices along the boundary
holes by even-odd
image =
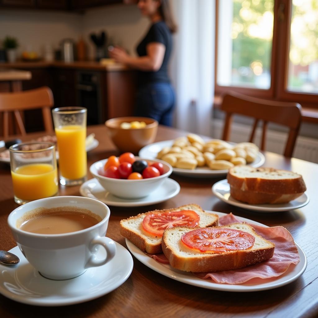
[[[99,146],[88,152],[88,166],[119,155],[105,126],[89,126]],[[174,139],[187,133],[159,126],[156,141]],[[42,134],[29,134],[32,140]],[[107,236],[126,247],[119,232],[121,219],[138,213],[196,203],[204,210],[225,212],[268,226],[282,225],[294,237],[308,258],[303,275],[285,286],[257,292],[225,292],[191,286],[155,272],[133,257],[133,271],[120,287],[98,299],[62,307],[25,305],[0,295],[0,317],[317,317],[318,316],[318,164],[264,152],[264,166],[300,173],[310,202],[293,211],[262,213],[234,207],[213,195],[211,187],[225,178],[190,178],[172,174],[180,193],[163,203],[143,207],[111,207]],[[88,178],[92,175],[88,172]],[[7,225],[9,213],[17,208],[13,199],[10,165],[0,163],[0,249],[16,246]],[[79,186],[60,186],[59,195],[79,196]]]

